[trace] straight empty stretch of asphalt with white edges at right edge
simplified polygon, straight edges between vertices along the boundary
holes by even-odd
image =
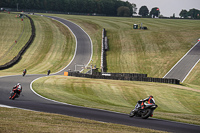
[[[164,76],[164,78],[179,79],[184,82],[192,69],[200,61],[200,42],[196,43]]]

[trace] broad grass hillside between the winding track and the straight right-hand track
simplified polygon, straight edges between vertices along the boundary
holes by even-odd
[[[199,20],[57,15],[80,25],[92,38],[93,63],[100,67],[101,33],[109,39],[108,72],[163,77],[199,38]],[[148,30],[134,30],[143,23]]]

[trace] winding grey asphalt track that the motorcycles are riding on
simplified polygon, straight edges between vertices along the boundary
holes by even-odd
[[[84,45],[81,46],[83,48],[87,47],[87,49],[91,48],[91,42],[89,37],[86,35],[83,30],[63,19],[54,18],[59,21],[61,21],[63,24],[67,25],[71,31],[74,33],[76,38],[81,38],[80,40],[77,39],[77,47],[78,45]],[[78,33],[78,34],[75,34]],[[81,33],[81,34],[80,34]],[[85,34],[85,35],[83,35]],[[84,36],[86,38],[84,38]],[[82,41],[85,40],[87,43],[89,42],[89,45],[87,43],[83,43]],[[80,50],[81,51],[81,50]],[[87,50],[86,50],[87,51]],[[82,56],[91,56],[91,49],[88,50],[89,54],[87,52],[79,53],[79,50],[76,51],[76,55],[81,54]],[[86,54],[86,55],[82,55]],[[76,63],[79,63],[80,61],[83,61],[83,59],[80,56],[74,57],[73,61],[76,61]],[[80,58],[80,59],[78,59]],[[90,57],[87,58],[88,60],[85,60],[86,62],[81,62],[84,64],[87,64],[89,62]],[[58,72],[57,74],[63,74],[64,71],[74,68],[74,63],[71,62],[71,65],[68,65],[65,69]],[[177,133],[199,133],[200,132],[200,126],[196,125],[190,125],[190,124],[184,124],[184,123],[177,123],[177,122],[171,122],[171,121],[165,121],[165,120],[159,120],[159,119],[141,119],[141,118],[130,118],[128,114],[121,114],[116,112],[110,112],[105,110],[99,110],[99,109],[91,109],[91,108],[85,108],[85,107],[78,107],[74,105],[69,105],[66,103],[59,103],[56,101],[51,101],[48,99],[45,99],[43,97],[38,96],[31,90],[31,83],[40,77],[44,77],[46,75],[26,75],[25,77],[21,75],[16,76],[6,76],[6,77],[0,77],[0,104],[1,105],[7,105],[11,107],[17,107],[22,109],[28,109],[28,110],[34,110],[34,111],[41,111],[41,112],[48,112],[48,113],[56,113],[56,114],[62,114],[62,115],[68,115],[68,116],[74,116],[74,117],[80,117],[80,118],[86,118],[96,121],[102,121],[102,122],[109,122],[109,123],[116,123],[116,124],[123,124],[123,125],[129,125],[129,126],[136,126],[136,127],[142,127],[142,128],[150,128],[155,130],[162,130],[162,131],[168,131],[168,132],[177,132]],[[20,82],[23,86],[23,92],[21,96],[15,100],[8,99],[11,88],[16,83]],[[131,110],[130,110],[131,111]]]

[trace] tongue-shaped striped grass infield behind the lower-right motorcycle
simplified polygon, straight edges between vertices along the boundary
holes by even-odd
[[[200,125],[200,90],[183,85],[53,76],[35,81],[33,89],[56,101],[127,114],[153,95],[155,118]]]

